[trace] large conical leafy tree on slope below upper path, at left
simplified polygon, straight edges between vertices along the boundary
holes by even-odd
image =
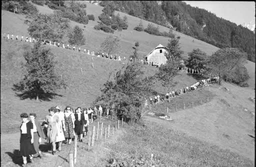
[[[54,94],[56,90],[66,87],[64,81],[54,73],[57,62],[54,61],[50,49],[40,46],[40,42],[37,42],[33,49],[24,53],[26,64],[22,66],[27,74],[20,83],[14,85],[16,90],[34,96],[36,100],[41,98],[42,94]]]

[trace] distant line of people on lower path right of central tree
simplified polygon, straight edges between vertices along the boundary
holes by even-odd
[[[186,86],[183,89],[181,88],[179,91],[177,89],[175,89],[175,91],[172,90],[172,91],[167,92],[165,94],[166,95],[166,99],[168,100],[169,96],[170,96],[170,98],[174,98],[174,97],[177,97],[178,95],[188,93],[188,92],[190,92],[192,90],[196,90],[197,88],[202,87],[204,84],[207,84],[207,83],[210,83],[210,82],[213,82],[213,81],[217,81],[217,80],[219,80],[219,77],[212,77],[212,78],[208,78],[208,79],[203,79],[203,80],[197,81],[196,83],[194,83],[194,84],[192,84],[190,86]],[[153,102],[152,102],[153,100],[152,100],[151,96],[149,98],[149,101],[150,101],[150,104],[153,104]],[[154,103],[155,104],[160,103],[160,96],[158,94],[155,95]],[[147,100],[145,102],[145,105],[147,106]]]

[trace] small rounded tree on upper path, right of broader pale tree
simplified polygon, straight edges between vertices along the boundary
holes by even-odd
[[[85,38],[83,35],[83,30],[79,28],[78,26],[75,26],[73,31],[68,34],[69,40],[68,42],[71,45],[76,45],[76,48],[78,46],[84,45],[85,43]]]

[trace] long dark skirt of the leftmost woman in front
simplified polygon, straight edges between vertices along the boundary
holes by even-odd
[[[24,157],[36,154],[31,138],[27,138],[27,133],[21,134],[20,137],[20,154]]]

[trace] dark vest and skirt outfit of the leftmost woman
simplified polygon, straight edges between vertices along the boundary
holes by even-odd
[[[33,123],[31,121],[27,122],[26,128],[27,128],[27,133],[22,133],[22,130],[20,129],[20,154],[24,157],[36,154],[34,144],[31,143],[32,137],[31,137],[30,130],[33,129]]]

